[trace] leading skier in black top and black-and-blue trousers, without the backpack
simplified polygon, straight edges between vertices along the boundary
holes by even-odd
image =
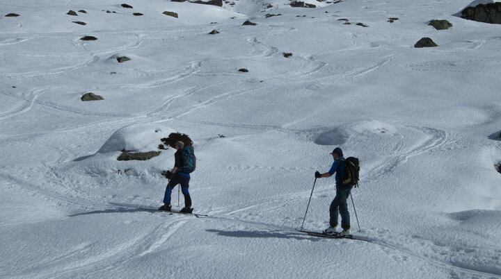
[[[193,208],[191,208],[191,197],[188,191],[190,175],[182,172],[182,152],[184,148],[183,142],[176,142],[175,149],[177,149],[174,154],[175,162],[172,171],[167,172],[167,176],[170,177],[170,181],[166,187],[166,192],[164,195],[164,205],[162,205],[159,210],[170,211],[170,194],[172,194],[172,189],[178,184],[181,185],[181,191],[184,196],[184,208],[180,211],[182,213],[191,213]]]

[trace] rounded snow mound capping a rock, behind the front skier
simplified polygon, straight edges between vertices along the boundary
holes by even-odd
[[[97,153],[157,150],[160,139],[168,137],[170,133],[175,133],[175,130],[158,124],[132,124],[113,133]]]

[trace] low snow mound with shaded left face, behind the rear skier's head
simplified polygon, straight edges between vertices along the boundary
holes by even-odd
[[[358,124],[342,126],[333,130],[328,130],[322,133],[315,140],[315,144],[319,145],[341,145],[349,140],[350,137],[358,137],[360,135],[393,134],[397,129],[394,126],[385,124],[381,121],[370,120],[363,121]]]

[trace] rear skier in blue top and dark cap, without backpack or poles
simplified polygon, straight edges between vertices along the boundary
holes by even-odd
[[[341,214],[341,227],[343,228],[339,235],[350,235],[350,219],[347,198],[351,192],[351,186],[342,185],[341,174],[344,173],[344,164],[342,163],[342,161],[344,161],[344,157],[342,150],[337,147],[331,154],[334,158],[334,163],[331,169],[325,174],[320,174],[318,171],[315,172],[315,178],[331,177],[335,173],[336,195],[331,203],[331,207],[329,208],[331,215],[331,219],[329,221],[330,226],[326,228],[323,233],[327,235],[337,234],[337,214],[339,212]]]

